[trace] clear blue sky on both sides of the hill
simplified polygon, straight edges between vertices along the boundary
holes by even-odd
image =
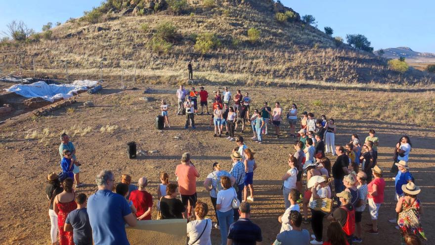
[[[47,22],[64,23],[102,0],[0,0],[0,36],[6,25],[22,20],[41,31]],[[362,34],[375,50],[409,47],[435,53],[434,0],[281,0],[301,15],[313,15],[318,28],[334,29],[333,36]]]

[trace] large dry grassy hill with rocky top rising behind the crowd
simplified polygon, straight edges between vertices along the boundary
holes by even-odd
[[[34,60],[40,76],[63,78],[67,62],[70,76],[120,79],[134,73],[136,82],[159,83],[185,79],[193,60],[195,78],[219,83],[434,81],[414,69],[392,71],[386,59],[340,44],[272,0],[185,1],[180,10],[173,7],[180,0],[108,0],[53,28],[47,40],[0,45],[0,59],[8,64],[3,70],[21,63],[24,73],[32,73]],[[172,36],[162,34],[172,26]]]

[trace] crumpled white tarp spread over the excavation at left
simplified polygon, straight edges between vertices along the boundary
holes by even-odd
[[[26,98],[43,98],[50,102],[56,99],[63,98],[68,99],[73,97],[73,93],[77,94],[77,91],[87,90],[95,87],[98,81],[91,80],[76,80],[72,84],[46,84],[44,81],[39,81],[32,84],[15,84],[9,89],[8,92],[14,92],[17,95]]]

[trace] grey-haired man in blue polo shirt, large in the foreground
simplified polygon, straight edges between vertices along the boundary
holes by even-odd
[[[115,177],[110,170],[101,171],[95,178],[98,191],[89,196],[87,213],[94,245],[130,245],[125,224],[136,225],[129,203],[112,189]]]

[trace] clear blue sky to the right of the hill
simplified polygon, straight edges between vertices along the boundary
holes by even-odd
[[[409,47],[435,53],[434,0],[281,0],[301,16],[313,15],[333,36],[363,34],[376,49]]]

